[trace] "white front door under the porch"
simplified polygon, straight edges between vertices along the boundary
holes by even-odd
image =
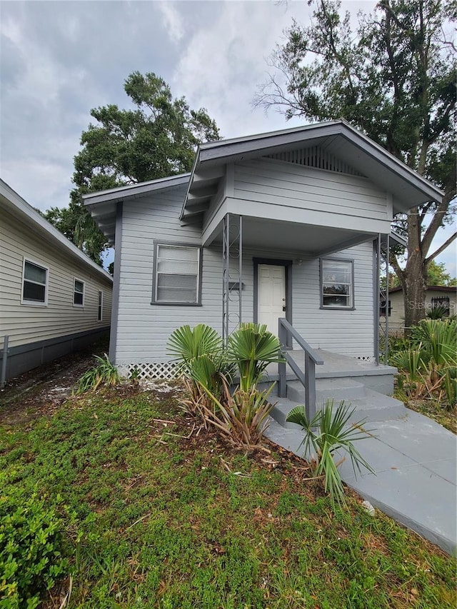
[[[259,264],[257,320],[278,336],[278,318],[286,317],[286,267]]]

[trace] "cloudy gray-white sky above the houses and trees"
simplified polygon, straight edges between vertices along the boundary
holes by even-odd
[[[376,2],[342,4],[355,18]],[[40,209],[68,205],[90,110],[126,108],[133,71],[162,76],[224,137],[303,124],[251,101],[283,29],[309,21],[305,0],[0,1],[0,11],[1,178]],[[456,274],[455,248],[439,260]]]

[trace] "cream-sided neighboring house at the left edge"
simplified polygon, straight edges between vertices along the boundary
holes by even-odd
[[[6,379],[106,334],[112,291],[109,273],[0,180],[0,369]]]

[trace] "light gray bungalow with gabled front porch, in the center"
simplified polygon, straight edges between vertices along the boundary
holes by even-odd
[[[116,249],[111,360],[166,375],[176,327],[281,317],[376,358],[378,241],[441,196],[341,120],[202,144],[191,173],[86,195]]]

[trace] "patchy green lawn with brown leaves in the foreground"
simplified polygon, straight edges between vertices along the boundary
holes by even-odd
[[[124,386],[0,426],[0,488],[64,518],[70,608],[455,606],[455,560],[351,491],[333,515],[306,463],[266,446],[246,456],[172,393]]]

